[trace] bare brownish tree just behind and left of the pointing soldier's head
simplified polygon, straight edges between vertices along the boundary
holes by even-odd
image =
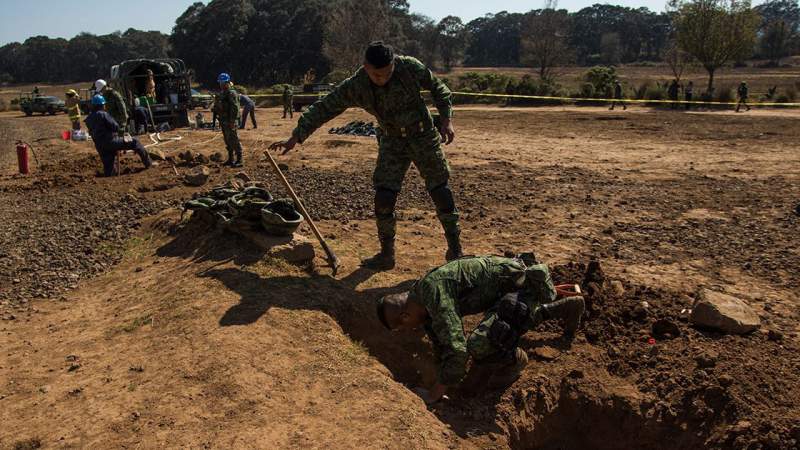
[[[337,70],[354,71],[364,62],[364,49],[386,39],[392,30],[388,3],[383,0],[331,2],[322,51]]]

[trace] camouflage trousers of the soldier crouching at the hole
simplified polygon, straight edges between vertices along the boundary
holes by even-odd
[[[520,336],[542,322],[541,306],[552,302],[555,298],[556,289],[547,266],[537,264],[526,268],[525,281],[523,287],[519,290],[518,299],[528,305],[530,314],[523,327],[524,329],[520,330]],[[500,320],[500,318],[497,315],[497,307],[494,307],[486,312],[481,323],[467,338],[467,351],[477,363],[500,362],[498,360],[507,356],[489,338],[489,330],[497,320]]]

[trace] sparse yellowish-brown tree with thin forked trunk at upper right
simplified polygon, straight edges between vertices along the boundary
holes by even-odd
[[[761,18],[749,0],[689,0],[676,6],[678,45],[706,69],[712,92],[717,69],[752,53]]]

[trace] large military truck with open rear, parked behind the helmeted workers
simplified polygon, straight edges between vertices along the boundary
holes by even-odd
[[[155,98],[145,95],[148,69],[153,71],[153,80],[156,84]],[[125,99],[131,121],[138,116],[146,117],[149,125],[154,123],[157,127],[163,123],[168,123],[171,128],[189,126],[188,111],[192,101],[191,77],[182,60],[123,61],[111,67],[111,76],[106,81]],[[94,92],[90,94],[94,95]]]

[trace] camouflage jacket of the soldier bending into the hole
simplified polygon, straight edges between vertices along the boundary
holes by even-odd
[[[412,298],[428,310],[425,331],[439,360],[439,383],[452,386],[464,377],[469,355],[461,318],[489,310],[524,283],[522,262],[474,256],[437,267],[415,284]]]

